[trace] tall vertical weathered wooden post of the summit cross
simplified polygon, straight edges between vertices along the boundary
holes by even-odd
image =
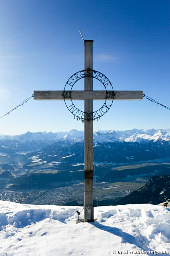
[[[93,40],[84,40],[84,70],[93,69]],[[85,74],[87,71],[85,72]],[[92,72],[90,72],[92,73]],[[93,78],[84,78],[84,90],[93,90]],[[84,222],[93,214],[93,100],[84,100]]]

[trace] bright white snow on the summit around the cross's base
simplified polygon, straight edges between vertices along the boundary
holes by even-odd
[[[97,222],[75,224],[81,209],[0,201],[0,256],[170,254],[170,208],[95,207]]]

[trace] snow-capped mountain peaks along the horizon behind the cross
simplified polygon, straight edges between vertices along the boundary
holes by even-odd
[[[44,148],[58,141],[81,142],[84,140],[84,131],[70,130],[69,132],[26,132],[21,135],[0,135],[1,150],[4,144],[17,152],[33,151]],[[94,132],[94,142],[170,142],[170,129],[150,130],[98,130]],[[24,146],[25,145],[25,146]]]

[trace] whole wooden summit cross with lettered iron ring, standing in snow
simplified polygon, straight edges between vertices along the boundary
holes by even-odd
[[[86,73],[93,70],[93,40],[84,40],[84,91],[72,90],[72,82],[78,78],[82,78],[81,73],[77,76],[72,76],[67,84],[70,85],[70,91],[34,91],[35,100],[84,100],[84,222],[94,222],[93,213],[93,119],[96,119],[97,114],[93,116],[93,100],[112,100],[110,97],[113,91],[93,91],[93,77],[86,76]],[[101,81],[102,73],[98,72]],[[101,78],[100,78],[101,77]],[[106,77],[104,76],[104,79]],[[103,83],[104,84],[104,83]],[[105,87],[107,82],[105,83]],[[64,96],[65,95],[65,96]],[[71,96],[71,97],[70,97]],[[109,97],[107,97],[109,96]],[[142,100],[143,91],[114,91],[114,100]],[[66,103],[66,102],[65,102]],[[110,105],[111,106],[111,105]],[[105,105],[107,112],[109,107]],[[75,113],[74,104],[68,107],[68,110]],[[78,112],[79,113],[79,112]],[[79,115],[80,116],[80,115]],[[78,116],[78,117],[79,117]],[[81,114],[82,116],[82,114]],[[98,114],[100,118],[100,114]],[[79,118],[80,119],[80,118]]]

